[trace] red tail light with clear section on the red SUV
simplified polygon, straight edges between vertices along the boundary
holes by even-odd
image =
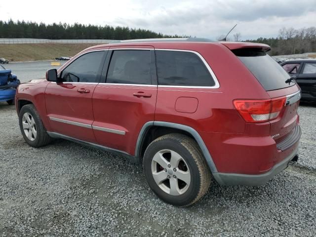
[[[234,106],[246,122],[275,119],[285,106],[286,97],[268,100],[234,100]]]

